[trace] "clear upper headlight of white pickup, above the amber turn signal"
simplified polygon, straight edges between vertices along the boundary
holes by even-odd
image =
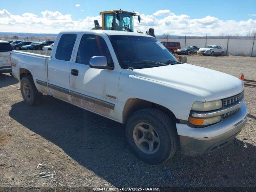
[[[212,111],[222,108],[222,101],[194,102],[191,110],[193,111]]]

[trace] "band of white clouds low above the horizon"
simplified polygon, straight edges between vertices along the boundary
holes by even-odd
[[[134,31],[146,32],[154,28],[157,35],[170,33],[172,35],[219,35],[236,34],[246,35],[246,32],[256,28],[256,19],[248,20],[219,20],[214,16],[204,18],[190,18],[186,14],[170,14],[158,19],[153,15],[140,14],[134,18]],[[94,20],[101,23],[101,16],[87,16],[74,20],[70,14],[62,14],[58,11],[42,11],[41,14],[24,13],[16,15],[7,10],[0,10],[0,29],[2,32],[35,32],[58,33],[62,30],[83,30],[94,27]]]

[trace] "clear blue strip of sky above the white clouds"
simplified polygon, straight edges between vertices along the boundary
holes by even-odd
[[[80,7],[76,7],[75,4],[80,4]],[[59,11],[62,14],[72,14],[75,20],[84,16],[96,16],[100,11],[116,8],[128,11],[134,9],[147,15],[153,14],[156,10],[168,9],[177,15],[189,15],[190,18],[211,15],[221,20],[248,20],[252,18],[249,14],[256,14],[256,0],[1,0],[0,9],[3,8],[13,14]]]

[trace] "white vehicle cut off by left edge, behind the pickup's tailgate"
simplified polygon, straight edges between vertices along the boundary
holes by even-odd
[[[7,41],[0,40],[0,74],[11,73],[10,53],[14,48]]]

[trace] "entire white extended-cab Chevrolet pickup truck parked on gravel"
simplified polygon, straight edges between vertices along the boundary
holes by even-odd
[[[58,34],[51,56],[13,51],[28,105],[42,93],[126,124],[132,151],[150,164],[212,152],[246,124],[244,84],[180,63],[152,36],[108,30]]]

